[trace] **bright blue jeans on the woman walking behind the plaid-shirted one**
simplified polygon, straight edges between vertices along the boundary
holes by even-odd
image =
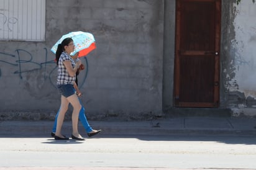
[[[78,97],[79,101],[80,101],[80,104],[81,104],[81,110],[79,112],[79,120],[81,121],[83,127],[85,127],[85,130],[87,133],[91,132],[93,130],[93,128],[90,127],[87,119],[86,119],[86,116],[85,116],[85,107],[83,107],[83,104],[80,100],[80,98]],[[57,126],[57,119],[58,119],[58,114],[60,112],[60,109],[58,110],[57,112],[57,115],[55,116],[55,122],[54,122],[54,125],[53,125],[53,128],[52,128],[52,132],[55,133],[56,132],[56,126]]]

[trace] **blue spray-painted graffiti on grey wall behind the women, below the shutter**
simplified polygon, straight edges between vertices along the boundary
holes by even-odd
[[[49,79],[50,83],[55,86],[55,79],[52,80],[52,74],[57,74],[55,71],[57,70],[57,66],[54,60],[49,60],[48,59],[48,50],[47,48],[43,48],[43,56],[42,60],[43,62],[36,62],[34,61],[34,56],[27,50],[24,49],[17,49],[14,51],[14,53],[4,53],[0,51],[0,63],[3,63],[4,65],[11,66],[13,70],[11,70],[11,73],[13,74],[18,74],[19,78],[23,78],[24,73],[29,73],[32,71],[38,71],[41,70],[43,71],[43,77],[44,79]],[[42,57],[42,56],[40,56]],[[85,84],[85,80],[88,74],[88,60],[86,57],[82,58],[85,60],[82,61],[86,65],[85,69],[85,76],[82,78],[80,77],[80,87]],[[29,64],[29,66],[27,66]],[[54,66],[49,66],[49,65],[54,65]],[[0,65],[1,66],[1,65]],[[50,69],[50,71],[49,71]],[[10,70],[7,70],[10,72]],[[0,81],[1,81],[1,76],[2,73],[4,73],[4,70],[1,69],[0,67]]]

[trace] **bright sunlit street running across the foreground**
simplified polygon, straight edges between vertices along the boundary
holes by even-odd
[[[1,168],[254,169],[252,136],[103,135],[85,141],[1,137]]]

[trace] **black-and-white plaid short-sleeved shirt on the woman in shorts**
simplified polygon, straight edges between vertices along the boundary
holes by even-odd
[[[60,55],[60,60],[58,60],[57,85],[74,84],[76,74],[74,74],[74,76],[70,76],[70,74],[68,74],[68,70],[65,68],[63,61],[71,61],[72,67],[75,67],[75,61],[73,60],[73,58],[71,58],[70,55],[63,51]]]

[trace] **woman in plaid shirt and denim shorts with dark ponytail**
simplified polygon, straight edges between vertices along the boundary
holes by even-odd
[[[70,53],[75,50],[75,45],[71,38],[65,38],[61,44],[58,45],[56,51],[56,61],[58,65],[57,86],[62,94],[60,112],[57,119],[57,128],[55,132],[55,140],[68,140],[66,136],[62,135],[61,129],[63,120],[68,110],[68,105],[73,106],[72,112],[72,128],[71,137],[75,140],[85,140],[78,133],[78,115],[81,110],[81,104],[78,96],[75,94],[74,83],[76,79],[76,71],[81,65],[81,61],[75,61],[71,58]]]

